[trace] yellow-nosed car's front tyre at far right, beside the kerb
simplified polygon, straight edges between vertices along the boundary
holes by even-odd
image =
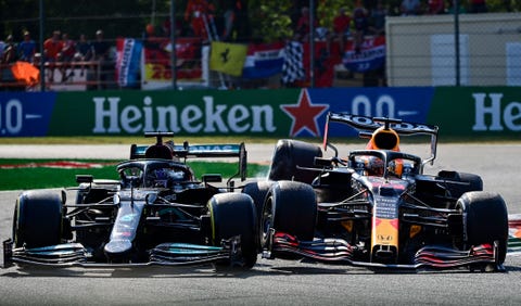
[[[499,242],[498,263],[505,262],[508,243],[508,212],[503,197],[493,192],[465,193],[457,203],[463,213],[463,241],[467,247]]]

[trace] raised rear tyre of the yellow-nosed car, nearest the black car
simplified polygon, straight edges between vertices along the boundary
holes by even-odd
[[[318,145],[290,139],[281,139],[277,142],[269,180],[295,180],[312,183],[318,173],[302,170],[300,167],[313,168],[315,157],[321,157],[322,151]]]

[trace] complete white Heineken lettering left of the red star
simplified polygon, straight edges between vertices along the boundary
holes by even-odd
[[[217,104],[214,98],[203,97],[202,103],[178,107],[153,105],[144,97],[142,105],[120,107],[119,97],[94,97],[94,133],[141,133],[144,131],[174,132],[272,132],[271,105]]]

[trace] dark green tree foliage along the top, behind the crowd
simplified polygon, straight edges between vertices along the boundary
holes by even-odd
[[[175,3],[176,18],[183,28],[189,24],[182,18],[188,0],[41,0],[45,8],[43,34],[49,37],[54,29],[66,31],[77,38],[86,34],[92,38],[101,28],[105,37],[141,37],[147,24],[158,26],[170,12],[170,3]],[[226,0],[208,0],[215,4],[217,26],[223,24]],[[384,0],[391,5],[391,14],[398,14],[401,0]],[[452,0],[449,0],[452,1]],[[469,0],[459,0],[460,5],[468,7]],[[353,11],[356,1],[315,0],[316,16],[320,26],[331,28],[332,20],[340,7]],[[427,5],[427,0],[422,3]],[[290,38],[293,35],[295,17],[298,9],[294,3],[306,3],[295,0],[243,0],[247,3],[247,28],[242,25],[242,40],[274,41]],[[448,3],[448,2],[447,2]],[[486,0],[490,12],[519,12],[521,0]],[[40,0],[0,0],[0,39],[12,34],[16,41],[22,33],[29,30],[34,39],[38,39]]]

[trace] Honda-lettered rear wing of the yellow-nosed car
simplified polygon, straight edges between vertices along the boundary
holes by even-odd
[[[398,135],[404,136],[415,136],[415,135],[429,135],[431,136],[431,155],[423,161],[423,164],[433,163],[436,157],[436,146],[437,146],[437,126],[427,125],[427,124],[417,124],[417,123],[407,123],[402,119],[385,118],[385,117],[368,117],[352,115],[347,113],[328,113],[326,119],[326,128],[323,131],[323,150],[327,149],[329,144],[328,133],[329,133],[329,124],[331,122],[342,123],[358,131],[358,135],[361,138],[370,138],[372,132],[378,128],[384,126],[385,128],[392,128]]]

